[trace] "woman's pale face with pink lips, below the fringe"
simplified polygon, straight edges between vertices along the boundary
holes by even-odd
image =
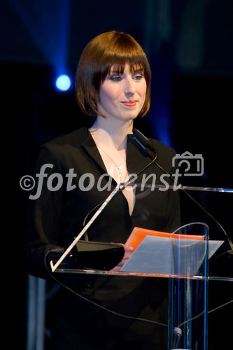
[[[99,90],[99,113],[106,117],[130,120],[136,118],[146,99],[146,80],[143,71],[131,73],[129,64],[123,73],[114,71],[114,66]]]

